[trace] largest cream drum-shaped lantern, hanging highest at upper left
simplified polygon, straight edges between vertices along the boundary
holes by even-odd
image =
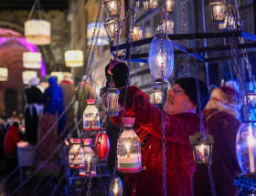
[[[25,36],[27,42],[35,45],[50,43],[50,23],[46,20],[27,20],[25,22]]]

